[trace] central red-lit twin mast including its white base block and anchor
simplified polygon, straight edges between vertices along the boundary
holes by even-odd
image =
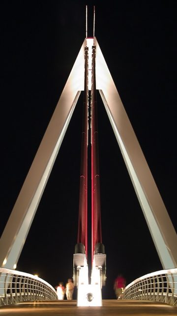
[[[87,20],[87,6],[86,6]],[[95,10],[93,18],[94,35]],[[100,185],[98,162],[98,128],[95,78],[94,36],[87,37],[86,21],[85,84],[83,129],[81,146],[81,177],[79,198],[78,243],[74,253],[74,284],[77,286],[77,306],[102,306],[102,285],[106,279],[106,255],[101,237]],[[89,91],[91,98],[89,102]],[[89,284],[87,258],[87,175],[88,175],[88,107],[91,109],[91,284]]]

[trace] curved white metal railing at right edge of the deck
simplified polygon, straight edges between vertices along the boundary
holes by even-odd
[[[161,270],[137,278],[125,287],[123,298],[177,305],[177,269]]]

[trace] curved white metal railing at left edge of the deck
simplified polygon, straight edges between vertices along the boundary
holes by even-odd
[[[0,306],[24,301],[57,299],[56,290],[40,277],[0,268]]]

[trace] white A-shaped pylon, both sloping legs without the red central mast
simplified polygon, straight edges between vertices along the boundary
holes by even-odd
[[[96,38],[96,89],[115,132],[164,269],[177,267],[177,234],[148,168]],[[15,269],[36,209],[79,98],[84,90],[85,39],[0,238],[0,266]]]

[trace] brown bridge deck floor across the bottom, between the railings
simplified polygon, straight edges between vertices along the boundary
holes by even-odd
[[[91,313],[90,313],[91,311]],[[102,307],[77,307],[76,301],[35,301],[0,307],[0,316],[177,316],[177,307],[150,301],[103,300]]]

